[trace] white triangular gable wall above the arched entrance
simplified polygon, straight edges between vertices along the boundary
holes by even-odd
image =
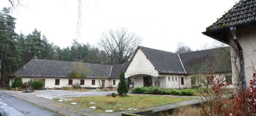
[[[151,75],[153,77],[158,76],[158,71],[140,49],[137,50],[130,65],[128,66],[125,72],[125,78],[138,74]]]

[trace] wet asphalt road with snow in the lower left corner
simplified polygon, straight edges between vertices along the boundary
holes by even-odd
[[[0,116],[60,116],[60,114],[0,92]]]

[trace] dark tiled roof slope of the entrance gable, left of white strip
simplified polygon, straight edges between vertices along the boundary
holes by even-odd
[[[178,54],[142,46],[138,48],[141,49],[159,73],[185,73]]]

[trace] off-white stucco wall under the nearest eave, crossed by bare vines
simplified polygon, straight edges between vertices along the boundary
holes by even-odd
[[[256,26],[246,26],[237,28],[236,35],[243,50],[245,81],[248,87],[248,84],[250,83],[250,80],[252,79],[253,75],[253,70],[251,68],[253,65],[254,67],[256,66]],[[233,39],[232,36],[230,36],[230,40],[231,39]],[[232,44],[233,43],[231,40],[230,45]],[[235,61],[235,57],[237,56],[232,46],[230,46],[230,52],[233,72],[232,80],[233,82],[237,82],[237,70],[235,66],[237,66],[240,71],[240,64],[239,60]]]

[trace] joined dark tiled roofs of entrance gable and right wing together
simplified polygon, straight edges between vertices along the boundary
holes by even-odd
[[[211,68],[214,72],[231,71],[231,58],[230,54],[228,54],[229,47],[181,53],[179,55],[177,53],[142,46],[138,46],[137,50],[138,49],[141,49],[159,74],[206,73],[207,63],[213,64]],[[136,54],[137,50],[135,51],[134,55]],[[205,60],[207,60],[207,62],[205,62]],[[198,62],[200,63],[198,64]],[[197,72],[195,72],[194,67],[200,67],[201,69],[197,69]]]

